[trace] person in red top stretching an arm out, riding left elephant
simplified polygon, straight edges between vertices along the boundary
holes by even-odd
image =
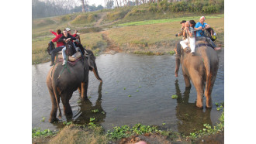
[[[58,42],[57,40],[61,38],[62,33],[61,33],[61,29],[57,29],[57,33],[55,33],[54,31],[52,31],[50,29],[50,33],[53,33],[56,37],[54,39],[52,39],[51,41],[54,43],[56,42],[57,43],[57,48],[55,48],[54,50],[52,50],[50,53],[51,53],[51,63],[50,63],[50,66],[53,66],[54,65],[54,57],[56,56],[56,53],[61,51],[62,48],[64,48],[64,43],[63,42]]]

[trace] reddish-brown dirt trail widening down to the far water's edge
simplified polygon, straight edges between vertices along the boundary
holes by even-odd
[[[116,45],[116,43],[114,41],[109,39],[108,33],[106,31],[102,32],[102,39],[106,40],[106,42],[108,43],[107,47],[106,47],[106,50],[105,50],[105,53],[115,54],[115,53],[120,53],[120,52],[123,51],[119,48],[119,46]]]

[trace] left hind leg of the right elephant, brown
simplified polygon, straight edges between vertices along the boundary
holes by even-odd
[[[197,92],[196,106],[199,108],[202,108],[204,82],[202,81],[202,78],[197,73],[193,74],[192,82]]]

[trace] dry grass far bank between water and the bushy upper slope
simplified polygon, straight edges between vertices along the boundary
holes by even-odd
[[[171,19],[143,20],[120,24],[119,22],[104,23],[106,15],[101,15],[101,19],[98,19],[92,27],[87,25],[79,27],[81,24],[72,24],[74,23],[71,22],[72,16],[68,17],[70,21],[63,22],[59,27],[54,24],[35,27],[33,29],[32,63],[38,64],[50,61],[50,55],[46,51],[47,43],[54,38],[54,35],[48,32],[49,29],[70,27],[72,32],[74,32],[74,29],[79,29],[81,44],[86,46],[86,49],[92,50],[96,56],[107,53],[162,55],[172,54],[175,43],[182,39],[175,36],[175,33],[180,30],[179,22],[181,19],[195,19],[195,21],[199,19],[198,16],[186,15]],[[206,15],[206,22],[214,28],[217,34],[216,45],[223,47],[224,15]]]

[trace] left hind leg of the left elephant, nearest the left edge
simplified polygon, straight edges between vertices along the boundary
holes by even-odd
[[[51,100],[51,111],[50,111],[50,118],[49,118],[49,122],[53,123],[55,121],[57,121],[56,115],[57,115],[57,102],[56,102],[56,98],[54,95],[54,91],[51,90],[50,88],[48,88],[49,93],[50,93],[50,100]]]

